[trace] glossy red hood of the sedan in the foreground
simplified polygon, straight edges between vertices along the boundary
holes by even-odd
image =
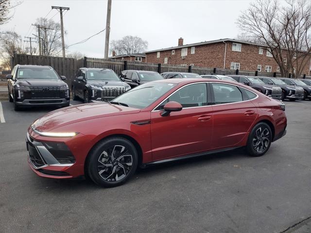
[[[105,102],[79,104],[48,113],[35,120],[32,127],[38,131],[48,132],[64,125],[106,117],[138,113],[140,109],[115,105]]]

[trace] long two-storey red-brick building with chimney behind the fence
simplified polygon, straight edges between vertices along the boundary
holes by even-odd
[[[276,61],[265,46],[228,38],[188,45],[179,38],[176,47],[147,51],[146,62],[279,72]],[[311,64],[307,64],[302,73],[309,75],[310,69]]]

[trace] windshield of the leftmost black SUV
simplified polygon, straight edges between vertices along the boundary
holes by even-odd
[[[17,79],[59,79],[52,69],[44,68],[19,68]]]

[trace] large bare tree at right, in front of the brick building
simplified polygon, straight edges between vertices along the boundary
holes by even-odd
[[[240,37],[262,44],[280,67],[283,77],[299,77],[311,58],[311,2],[256,0],[237,21]],[[309,65],[308,65],[309,66]],[[294,72],[295,71],[295,72]]]

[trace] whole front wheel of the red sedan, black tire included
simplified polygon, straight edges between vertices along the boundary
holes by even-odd
[[[130,179],[137,166],[138,153],[135,146],[125,138],[111,137],[99,142],[91,150],[86,172],[94,183],[115,187]]]

